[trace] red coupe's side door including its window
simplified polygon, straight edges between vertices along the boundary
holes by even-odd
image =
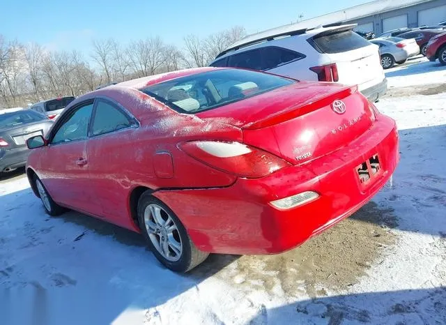
[[[100,214],[91,199],[86,142],[93,100],[81,103],[61,116],[49,136],[40,159],[40,178],[54,201],[78,211]],[[94,202],[94,203],[93,203]]]

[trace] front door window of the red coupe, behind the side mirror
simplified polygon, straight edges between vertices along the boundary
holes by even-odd
[[[93,103],[89,103],[70,112],[68,119],[56,131],[51,143],[59,144],[86,139],[92,111]]]

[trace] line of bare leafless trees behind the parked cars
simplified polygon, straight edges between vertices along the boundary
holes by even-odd
[[[207,66],[245,34],[236,26],[206,38],[188,35],[183,48],[164,43],[159,36],[125,46],[113,38],[94,40],[86,54],[50,51],[0,35],[0,107],[27,107],[49,98],[79,96],[102,84]]]

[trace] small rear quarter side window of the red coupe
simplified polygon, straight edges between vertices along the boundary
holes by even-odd
[[[126,114],[108,103],[105,100],[98,100],[98,105],[95,109],[95,117],[93,119],[92,135],[103,135],[121,128],[128,128],[132,126],[132,121]]]

